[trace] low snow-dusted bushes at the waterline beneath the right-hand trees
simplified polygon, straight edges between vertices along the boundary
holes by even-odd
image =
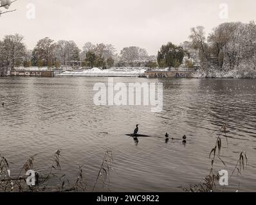
[[[229,71],[220,70],[197,70],[194,78],[256,78],[255,69],[234,69]]]

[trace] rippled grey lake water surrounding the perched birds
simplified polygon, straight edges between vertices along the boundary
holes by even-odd
[[[114,82],[163,83],[163,111],[149,106],[95,106],[93,86],[107,78],[0,78],[0,153],[20,169],[33,154],[35,170],[45,172],[57,149],[69,181],[78,165],[91,190],[105,151],[113,151],[113,170],[107,181],[111,191],[180,192],[179,186],[196,184],[210,171],[208,158],[215,145],[213,133],[225,123],[216,170],[231,174],[239,152],[246,151],[249,167],[232,177],[226,191],[256,190],[256,81],[254,79],[144,79],[114,78]],[[139,133],[152,137],[133,138]],[[187,135],[165,142],[170,137]],[[99,182],[96,190],[109,191]]]

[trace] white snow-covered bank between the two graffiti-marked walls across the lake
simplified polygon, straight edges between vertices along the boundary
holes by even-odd
[[[106,69],[100,70],[93,68],[90,70],[82,71],[65,71],[61,74],[57,74],[57,77],[138,77],[143,76],[145,73],[144,69]]]

